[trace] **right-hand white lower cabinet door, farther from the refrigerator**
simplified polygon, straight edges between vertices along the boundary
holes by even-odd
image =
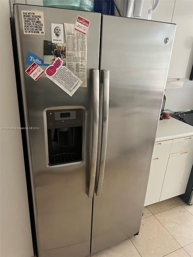
[[[185,193],[193,164],[193,150],[170,154],[160,201]]]

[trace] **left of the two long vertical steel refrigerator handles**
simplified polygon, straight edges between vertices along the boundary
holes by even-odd
[[[91,155],[88,198],[93,197],[95,176],[96,176],[96,159],[97,159],[98,130],[99,130],[99,70],[93,70],[92,79],[93,79],[93,137],[92,137],[92,155]]]

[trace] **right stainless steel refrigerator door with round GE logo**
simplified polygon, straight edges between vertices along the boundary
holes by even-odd
[[[140,230],[176,25],[103,15],[101,29],[100,69],[109,70],[109,118],[104,178],[102,147],[97,159],[91,254]],[[105,86],[101,91],[108,91]],[[103,136],[102,129],[102,146]]]

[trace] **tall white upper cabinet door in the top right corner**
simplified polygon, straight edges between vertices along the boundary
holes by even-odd
[[[189,80],[193,63],[193,55],[191,52],[193,49],[192,21],[193,1],[176,0],[172,23],[177,24],[177,27],[169,65],[168,79],[184,78],[184,80]]]

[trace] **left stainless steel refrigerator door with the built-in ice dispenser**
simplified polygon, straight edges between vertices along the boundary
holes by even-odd
[[[43,12],[45,35],[24,34],[21,17],[21,11],[24,10]],[[51,40],[51,23],[74,24],[78,15],[90,21],[87,32],[87,87],[78,88],[70,97],[45,74],[34,81],[25,72],[29,67],[25,63],[29,50],[43,59],[43,41]],[[25,126],[39,128],[27,130],[26,133],[40,257],[85,257],[90,254],[93,190],[90,190],[91,198],[89,198],[87,188],[89,184],[94,187],[92,182],[94,182],[96,156],[91,156],[91,153],[93,150],[96,155],[97,151],[96,147],[93,147],[92,139],[94,138],[97,146],[98,127],[93,128],[93,124],[97,126],[99,101],[97,99],[99,81],[96,78],[99,77],[97,75],[99,73],[91,70],[98,69],[99,66],[100,19],[99,13],[31,5],[14,6]],[[16,49],[16,45],[13,48]],[[45,66],[42,68],[45,70]],[[90,73],[95,74],[92,83]],[[96,85],[94,97],[93,83]],[[93,110],[95,107],[96,110]],[[52,129],[49,131],[45,125],[46,119],[49,120],[46,111],[49,110],[50,113],[55,113],[58,119],[60,117],[68,119],[69,115],[80,114],[80,126],[66,126],[58,131]],[[47,154],[49,151],[52,152],[54,147],[60,151],[59,149],[62,147],[65,149],[67,145],[69,149],[73,149],[74,144],[77,145],[77,153],[80,154],[74,157],[77,158],[77,163],[60,165],[59,159],[49,159],[50,156]],[[48,165],[48,159],[52,166]]]

